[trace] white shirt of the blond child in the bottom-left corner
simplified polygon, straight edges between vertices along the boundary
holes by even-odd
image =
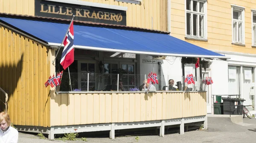
[[[0,129],[0,143],[17,143],[19,132],[12,126],[6,132]]]

